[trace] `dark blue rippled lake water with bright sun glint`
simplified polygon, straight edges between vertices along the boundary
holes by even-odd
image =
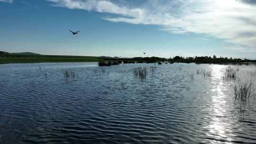
[[[137,66],[157,68],[142,80]],[[256,103],[233,99],[236,81],[221,79],[227,67],[1,64],[0,144],[255,144]],[[255,65],[231,67],[256,80]]]

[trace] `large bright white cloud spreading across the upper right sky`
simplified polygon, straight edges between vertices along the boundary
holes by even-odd
[[[245,0],[48,0],[55,6],[117,14],[112,22],[160,25],[174,34],[206,34],[256,49],[256,6]],[[247,0],[248,1],[248,0]]]

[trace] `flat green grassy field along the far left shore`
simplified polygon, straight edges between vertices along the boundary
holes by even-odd
[[[0,54],[0,63],[99,62],[95,56],[66,56],[40,54]]]

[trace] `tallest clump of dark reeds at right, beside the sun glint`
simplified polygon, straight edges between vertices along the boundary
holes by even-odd
[[[255,97],[253,81],[250,81],[250,83],[235,83],[234,90],[235,100],[247,102],[250,96]]]

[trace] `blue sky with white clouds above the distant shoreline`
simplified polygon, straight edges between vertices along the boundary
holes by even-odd
[[[10,53],[256,59],[256,0],[0,0],[0,18]]]

